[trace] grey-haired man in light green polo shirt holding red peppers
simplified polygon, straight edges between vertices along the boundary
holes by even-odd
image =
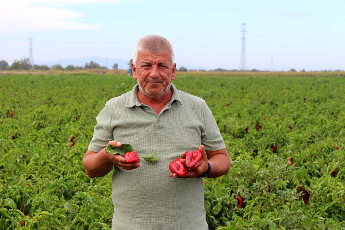
[[[141,38],[131,63],[138,84],[112,98],[97,116],[83,165],[89,177],[112,168],[113,230],[207,230],[203,179],[228,173],[230,159],[218,126],[201,98],[177,90],[170,42],[156,35]],[[127,163],[105,151],[129,143],[139,156],[156,152],[155,163]],[[169,163],[188,150],[203,157],[195,170],[179,177]],[[199,178],[197,178],[199,177]]]

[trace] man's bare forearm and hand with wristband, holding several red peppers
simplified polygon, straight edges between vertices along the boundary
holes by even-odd
[[[208,178],[216,178],[227,174],[230,170],[230,158],[226,149],[217,151],[205,150],[204,146],[199,147],[203,157],[201,158],[200,166],[194,170],[189,170],[186,175],[181,178],[193,178],[201,174],[204,174],[208,170],[208,162],[211,164],[211,171],[208,174]],[[181,162],[185,163],[185,159],[181,159]],[[180,177],[176,173],[170,172],[170,177]]]

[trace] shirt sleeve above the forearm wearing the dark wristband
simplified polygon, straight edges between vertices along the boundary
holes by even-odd
[[[205,149],[217,151],[225,148],[223,137],[219,132],[216,120],[206,102],[203,103],[203,123],[204,128],[201,132],[201,143]]]

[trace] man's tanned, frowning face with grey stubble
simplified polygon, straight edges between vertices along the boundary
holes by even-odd
[[[170,93],[170,83],[176,74],[176,63],[171,63],[170,51],[157,54],[140,51],[136,66],[132,63],[131,68],[133,77],[137,79],[139,89],[145,96],[159,99]]]

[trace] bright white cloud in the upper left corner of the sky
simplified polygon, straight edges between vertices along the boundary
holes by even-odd
[[[78,22],[84,15],[66,8],[71,3],[87,4],[120,0],[9,0],[0,8],[0,35],[53,30],[98,29],[100,25]],[[59,8],[57,8],[59,6]]]

